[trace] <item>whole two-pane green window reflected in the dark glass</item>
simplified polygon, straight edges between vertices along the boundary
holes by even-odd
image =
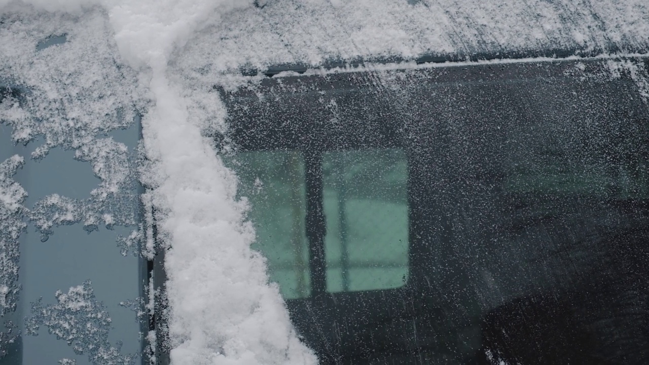
[[[326,292],[403,286],[408,276],[408,166],[403,151],[323,153],[308,160],[321,171],[315,177],[319,181],[313,183],[311,177],[311,184],[306,159],[297,151],[243,152],[226,163],[238,173],[239,197],[250,204],[248,218],[256,230],[252,248],[267,258],[270,279],[285,299],[311,296],[313,272],[326,277],[321,277]],[[308,197],[321,199],[308,205]],[[307,216],[313,216],[308,206],[323,219],[307,224]],[[324,221],[323,230],[314,227],[319,221]],[[308,232],[314,233],[311,245]],[[322,242],[324,262],[314,249]],[[325,270],[318,271],[322,266]]]

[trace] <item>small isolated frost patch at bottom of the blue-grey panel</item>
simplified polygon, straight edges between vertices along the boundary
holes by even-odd
[[[90,281],[69,288],[67,293],[58,290],[55,296],[56,305],[43,306],[42,299],[32,303],[33,317],[25,319],[27,334],[37,336],[43,325],[49,333],[56,334],[56,338],[66,341],[77,355],[88,355],[92,364],[135,363],[137,355],[121,355],[121,342],[112,346],[108,341],[110,316],[103,303],[95,299]],[[66,363],[69,364],[62,362]]]

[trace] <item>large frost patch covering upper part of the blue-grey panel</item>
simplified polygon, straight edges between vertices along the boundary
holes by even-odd
[[[39,144],[32,158],[54,147],[73,150],[101,181],[84,201],[45,197],[30,220],[43,239],[62,224],[82,222],[88,231],[136,224],[136,152],[108,133],[132,127],[147,97],[138,74],[121,64],[107,14],[99,7],[80,14],[48,14],[19,3],[6,8],[0,76],[19,96],[5,98],[0,122],[12,127],[14,142]],[[66,42],[42,46],[56,35]]]

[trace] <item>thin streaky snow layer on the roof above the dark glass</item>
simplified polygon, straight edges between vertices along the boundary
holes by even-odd
[[[270,0],[178,49],[179,69],[220,72],[358,58],[543,49],[649,51],[649,3],[629,1]]]

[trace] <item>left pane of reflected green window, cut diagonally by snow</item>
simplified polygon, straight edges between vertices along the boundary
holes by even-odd
[[[257,239],[252,249],[267,258],[271,281],[285,299],[308,297],[308,246],[304,218],[304,159],[298,152],[246,152],[228,158],[239,177],[239,197],[251,205],[248,218]]]

